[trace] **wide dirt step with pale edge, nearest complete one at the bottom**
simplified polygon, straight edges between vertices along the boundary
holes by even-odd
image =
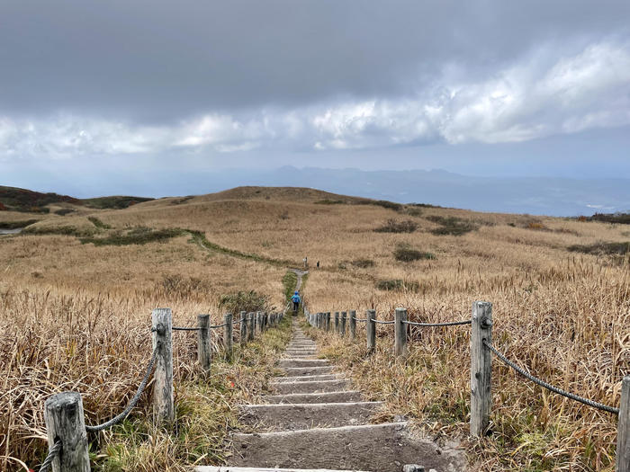
[[[383,423],[293,432],[234,434],[230,465],[262,468],[341,468],[400,472],[404,464],[439,471],[467,470],[462,450],[414,438],[406,423]],[[229,470],[225,468],[224,470]]]

